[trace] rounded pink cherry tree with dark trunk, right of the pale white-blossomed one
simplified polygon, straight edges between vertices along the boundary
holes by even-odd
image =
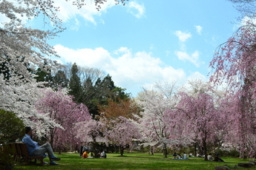
[[[191,81],[191,88],[179,92],[179,102],[175,109],[168,110],[165,121],[174,139],[199,143],[207,156],[207,147],[213,143],[220,130],[223,130],[222,114],[218,112],[217,95],[210,84]],[[205,156],[205,160],[207,157]]]

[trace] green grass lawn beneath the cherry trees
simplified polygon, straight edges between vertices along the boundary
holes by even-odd
[[[58,161],[59,166],[44,165],[39,166],[37,163],[30,163],[26,166],[22,163],[15,166],[17,169],[174,169],[174,170],[204,170],[214,169],[215,166],[234,166],[237,163],[248,163],[248,160],[239,158],[222,157],[225,163],[204,161],[201,157],[191,157],[189,160],[174,160],[171,156],[163,157],[163,154],[134,154],[125,153],[123,157],[119,154],[108,154],[107,159],[91,158],[81,159],[79,154],[62,153],[56,154],[62,160]],[[45,161],[49,161],[48,158]]]

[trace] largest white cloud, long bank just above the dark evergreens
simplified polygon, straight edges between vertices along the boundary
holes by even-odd
[[[114,52],[98,47],[92,49],[73,50],[62,45],[55,47],[64,63],[76,62],[82,67],[99,68],[112,76],[116,86],[138,92],[142,86],[155,84],[157,81],[185,81],[183,69],[165,66],[160,58],[154,58],[151,52],[132,52],[120,47]],[[134,94],[137,95],[137,94]]]

